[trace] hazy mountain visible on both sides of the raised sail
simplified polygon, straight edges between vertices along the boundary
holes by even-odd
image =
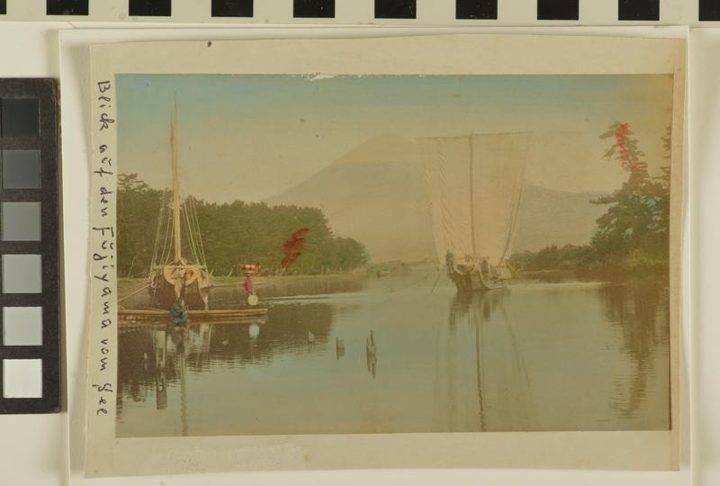
[[[415,142],[383,134],[266,202],[319,208],[337,235],[361,241],[374,262],[418,261],[435,258],[424,177]],[[598,195],[527,185],[514,251],[588,243],[604,212],[590,203]]]

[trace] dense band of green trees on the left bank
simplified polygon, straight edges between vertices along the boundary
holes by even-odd
[[[157,236],[160,247],[169,243],[165,238],[169,210],[164,207],[169,201],[169,192],[150,188],[136,174],[118,176],[119,275],[147,275]],[[302,256],[286,274],[347,272],[367,261],[365,247],[355,239],[335,236],[319,209],[240,201],[193,200],[193,204],[207,265],[214,275],[237,275],[241,263],[258,263],[263,273],[279,273],[283,242],[302,227],[310,229]],[[192,255],[185,242],[183,254]]]

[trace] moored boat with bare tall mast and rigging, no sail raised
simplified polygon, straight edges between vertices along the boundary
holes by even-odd
[[[205,262],[200,225],[194,200],[181,201],[177,169],[177,105],[170,117],[170,165],[173,188],[169,208],[160,205],[155,250],[148,288],[153,306],[170,309],[174,304],[186,310],[207,311],[210,296],[210,274]],[[165,197],[165,196],[164,196]],[[183,224],[184,222],[184,224]],[[183,241],[183,229],[185,241]],[[192,256],[184,255],[187,249]]]

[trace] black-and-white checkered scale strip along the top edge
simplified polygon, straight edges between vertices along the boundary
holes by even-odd
[[[0,22],[713,25],[720,0],[0,0]]]

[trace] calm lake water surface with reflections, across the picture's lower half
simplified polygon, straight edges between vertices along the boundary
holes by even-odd
[[[268,289],[258,323],[122,330],[117,434],[669,428],[664,286],[516,284],[463,300],[436,276],[300,281]]]

